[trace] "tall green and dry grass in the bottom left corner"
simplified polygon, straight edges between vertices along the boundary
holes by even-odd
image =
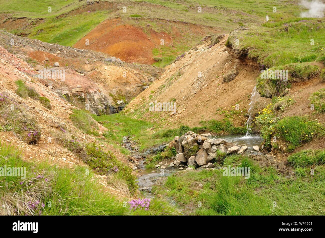
[[[178,214],[175,207],[159,199],[150,202],[148,211],[129,210],[127,201],[118,201],[103,192],[87,168],[62,169],[46,163],[27,163],[16,148],[0,143],[0,167],[4,165],[25,168],[26,178],[0,176],[0,215]]]

